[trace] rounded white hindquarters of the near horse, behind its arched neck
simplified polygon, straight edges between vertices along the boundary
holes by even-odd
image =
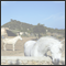
[[[33,47],[33,45],[35,44],[36,42],[35,41],[28,41],[25,44],[24,44],[24,55],[25,56],[31,56],[31,50]]]

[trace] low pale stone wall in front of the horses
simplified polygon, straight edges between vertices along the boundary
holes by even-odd
[[[59,65],[65,65],[64,61]],[[1,56],[1,65],[54,65],[50,57]]]

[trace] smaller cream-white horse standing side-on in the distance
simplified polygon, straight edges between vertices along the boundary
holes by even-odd
[[[7,44],[12,44],[13,45],[13,51],[14,51],[14,45],[15,45],[18,40],[22,40],[22,37],[21,36],[15,36],[13,38],[3,38],[2,42],[3,42],[4,51],[6,51],[6,45]]]

